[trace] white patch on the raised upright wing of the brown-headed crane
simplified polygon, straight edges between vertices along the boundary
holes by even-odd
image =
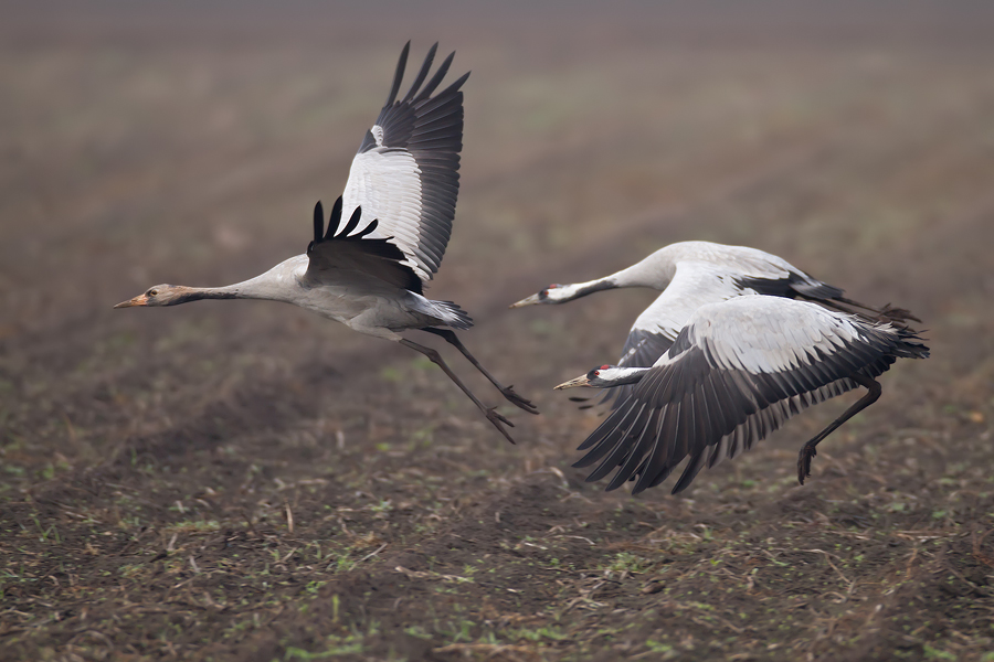
[[[377,129],[380,129],[379,134]],[[379,145],[383,139],[382,128],[373,126],[372,135]],[[421,239],[421,170],[411,152],[377,147],[356,154],[342,194],[341,217],[350,217],[357,206],[362,206],[361,227],[373,218],[379,221],[377,229],[369,236],[392,237],[391,243],[408,256],[401,264],[414,269],[422,280],[430,280],[431,269],[417,254]]]

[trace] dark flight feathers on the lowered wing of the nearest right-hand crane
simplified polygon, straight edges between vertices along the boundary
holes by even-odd
[[[859,338],[828,355],[816,351],[796,367],[752,373],[719,367],[712,348],[691,343],[687,332],[669,350],[674,361],[647,371],[580,446],[590,450],[574,467],[600,460],[588,480],[618,468],[607,490],[637,477],[635,494],[660,483],[690,456],[673,490],[683,491],[705,466],[721,459],[716,453],[722,438],[729,437],[726,452],[734,457],[804,408],[855,388],[849,378],[855,372],[873,378],[897,357],[928,356],[913,331],[866,325]]]

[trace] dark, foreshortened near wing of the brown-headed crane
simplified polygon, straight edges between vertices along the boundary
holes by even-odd
[[[422,293],[421,279],[405,264],[400,248],[372,237],[379,222],[373,220],[359,229],[362,207],[356,207],[341,229],[341,197],[335,201],[328,231],[325,232],[325,213],[321,203],[314,206],[314,241],[307,246],[307,273],[311,284],[343,284],[356,278],[377,278],[394,287]],[[337,231],[337,234],[336,234]]]

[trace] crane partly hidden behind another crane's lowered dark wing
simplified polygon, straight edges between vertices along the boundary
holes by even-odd
[[[859,312],[873,320],[903,325],[916,320],[907,310],[889,305],[877,309],[843,296],[843,290],[805,274],[785,259],[748,246],[727,246],[711,242],[679,242],[659,248],[642,261],[596,280],[572,285],[550,285],[520,301],[524,306],[564,303],[593,292],[646,287],[663,293],[638,316],[628,332],[617,362],[622,367],[648,367],[676,340],[690,314],[705,303],[725,301],[743,295],[770,295],[816,301],[833,310]],[[613,406],[631,395],[621,386],[606,394]],[[573,398],[586,402],[588,398]],[[589,407],[592,405],[584,405]]]

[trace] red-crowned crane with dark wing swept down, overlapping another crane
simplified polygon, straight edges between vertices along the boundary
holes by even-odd
[[[750,449],[802,409],[867,388],[801,448],[804,484],[818,442],[880,396],[876,377],[899,357],[928,357],[920,340],[906,327],[787,298],[753,295],[700,306],[651,367],[602,365],[556,387],[633,385],[580,446],[589,452],[574,467],[600,460],[589,481],[616,468],[607,490],[635,480],[637,494],[689,456],[675,494],[701,468]]]

